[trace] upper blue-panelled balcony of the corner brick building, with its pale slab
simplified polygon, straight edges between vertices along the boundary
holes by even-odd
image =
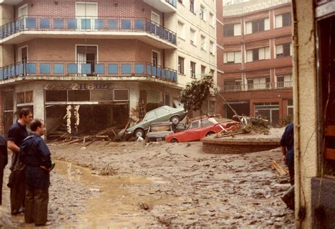
[[[176,33],[147,18],[23,16],[0,27],[0,44],[37,37],[138,39],[163,49],[177,47]]]

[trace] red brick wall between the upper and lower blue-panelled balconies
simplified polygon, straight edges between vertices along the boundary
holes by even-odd
[[[152,61],[152,49],[163,52],[139,40],[85,40],[85,39],[56,39],[38,38],[17,45],[18,48],[28,45],[30,61],[74,61],[76,60],[76,45],[98,45],[99,61]]]

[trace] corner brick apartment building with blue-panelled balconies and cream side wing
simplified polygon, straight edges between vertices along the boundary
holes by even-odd
[[[216,76],[216,28],[213,24],[208,30],[209,19],[204,19],[215,20],[215,1],[0,3],[2,134],[21,107],[30,107],[35,117],[45,119],[47,131],[70,119],[69,113],[71,125],[79,131],[105,129],[127,123],[139,104],[146,111],[173,106],[184,85],[201,78],[203,71]],[[201,23],[195,30],[204,31],[205,40],[199,33],[197,48],[180,48],[178,21],[188,25],[197,20]],[[194,54],[197,49],[201,53]],[[199,58],[206,53],[211,59]],[[194,69],[188,71],[185,62],[184,73],[178,73],[178,57],[192,61]],[[208,101],[204,107],[208,109]]]

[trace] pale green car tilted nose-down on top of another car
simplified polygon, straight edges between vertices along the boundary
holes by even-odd
[[[146,136],[146,131],[153,122],[172,122],[173,124],[178,124],[180,120],[186,117],[187,111],[184,110],[184,107],[170,107],[163,106],[158,107],[150,112],[146,113],[146,116],[143,117],[143,120],[138,124],[128,128],[126,130],[126,137],[134,135],[135,137]]]

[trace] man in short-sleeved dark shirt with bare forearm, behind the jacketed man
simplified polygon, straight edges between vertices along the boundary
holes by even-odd
[[[18,121],[14,123],[8,130],[8,148],[13,152],[11,158],[11,168],[20,170],[24,169],[24,165],[19,162],[18,155],[20,153],[20,145],[28,136],[26,124],[30,124],[33,120],[33,114],[28,108],[23,108],[18,112]],[[24,177],[20,177],[18,184],[11,187],[11,214],[16,215],[24,211],[25,204],[25,182]]]

